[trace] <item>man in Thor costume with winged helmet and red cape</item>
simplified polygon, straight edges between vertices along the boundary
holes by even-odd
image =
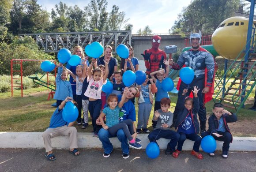
[[[173,63],[172,59],[169,59],[170,69],[180,70],[181,67],[191,67],[194,70],[194,79],[191,84],[185,84],[181,80],[177,85],[179,87],[178,100],[181,97],[184,89],[188,89],[187,96],[191,93],[191,88],[193,86],[198,86],[200,89],[197,93],[200,110],[198,111],[198,116],[200,120],[200,133],[205,131],[206,125],[206,109],[204,103],[212,99],[212,94],[214,91],[213,79],[215,74],[215,60],[214,57],[206,49],[200,47],[201,43],[201,32],[190,34],[190,44],[192,49],[186,52],[182,52],[176,63]],[[177,106],[173,112],[173,122],[177,119],[179,114]]]

